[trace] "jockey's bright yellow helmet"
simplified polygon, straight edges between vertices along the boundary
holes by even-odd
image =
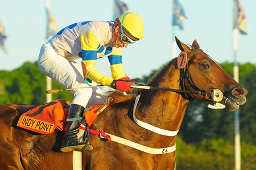
[[[135,14],[134,12],[126,12],[115,19],[115,22],[121,26],[122,31],[131,39],[134,39],[135,41],[144,39],[144,24],[139,14]]]

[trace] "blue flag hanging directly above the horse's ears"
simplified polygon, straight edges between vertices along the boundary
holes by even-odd
[[[177,25],[181,30],[183,30],[182,21],[187,19],[185,17],[185,12],[183,6],[178,2],[178,0],[173,0],[172,5],[172,25]]]

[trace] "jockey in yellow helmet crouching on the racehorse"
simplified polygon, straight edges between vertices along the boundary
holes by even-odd
[[[123,81],[130,80],[123,70],[123,47],[127,48],[129,44],[143,39],[143,32],[141,17],[134,12],[127,12],[115,22],[86,21],[71,24],[42,45],[39,69],[64,88],[75,88],[71,90],[74,99],[69,108],[68,130],[61,145],[62,152],[86,150],[84,147],[87,143],[77,139],[80,118],[87,104],[92,104],[95,99],[105,101],[100,88],[82,87],[98,83],[123,92],[131,90],[133,83]],[[108,57],[112,78],[95,68],[97,59],[102,57]],[[75,61],[79,58],[86,67],[86,81],[82,66]]]

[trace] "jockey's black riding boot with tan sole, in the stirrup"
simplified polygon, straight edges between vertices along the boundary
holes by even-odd
[[[88,142],[82,143],[77,139],[77,133],[79,133],[79,126],[81,125],[81,118],[82,114],[84,113],[84,109],[85,108],[81,105],[71,104],[69,108],[69,118],[75,118],[75,120],[68,121],[68,130],[64,135],[64,139],[60,147],[61,152],[69,152],[72,150],[84,151],[93,149],[93,147],[90,146]]]

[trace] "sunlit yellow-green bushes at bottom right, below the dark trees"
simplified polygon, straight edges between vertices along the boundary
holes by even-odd
[[[256,146],[242,142],[241,148],[242,169],[256,169]],[[234,169],[234,145],[222,138],[204,139],[197,145],[192,145],[185,143],[178,135],[176,151],[176,169]]]

